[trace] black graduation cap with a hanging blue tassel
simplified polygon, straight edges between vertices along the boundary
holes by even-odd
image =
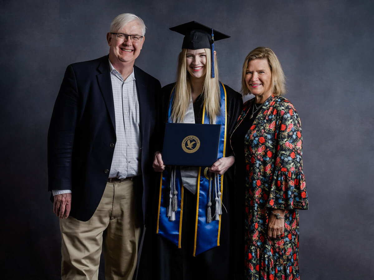
[[[184,35],[182,49],[211,49],[212,78],[214,78],[214,41],[230,38],[230,36],[196,21],[190,21],[169,29]]]

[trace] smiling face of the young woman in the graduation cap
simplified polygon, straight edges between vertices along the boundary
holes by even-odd
[[[204,78],[206,74],[206,53],[204,49],[187,50],[186,67],[191,78]]]

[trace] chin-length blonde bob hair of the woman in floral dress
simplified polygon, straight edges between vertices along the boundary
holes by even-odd
[[[242,93],[243,95],[250,94],[247,84],[245,83],[245,74],[248,63],[254,59],[266,59],[269,63],[270,71],[272,73],[273,96],[280,96],[286,93],[286,77],[283,73],[281,63],[275,53],[267,47],[257,47],[252,50],[244,60],[242,72]]]

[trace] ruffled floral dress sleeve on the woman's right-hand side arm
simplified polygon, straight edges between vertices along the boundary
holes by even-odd
[[[276,159],[266,206],[277,209],[308,209],[300,118],[289,102],[279,108],[277,113]]]

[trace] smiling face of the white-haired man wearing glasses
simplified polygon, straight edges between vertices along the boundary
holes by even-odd
[[[142,35],[142,29],[140,24],[137,21],[131,21],[125,25],[117,33],[125,33],[128,35]],[[109,59],[110,62],[114,65],[134,65],[135,59],[140,54],[144,43],[144,37],[138,42],[134,43],[131,41],[130,36],[127,40],[119,42],[116,38],[116,34],[107,34],[109,49]]]

